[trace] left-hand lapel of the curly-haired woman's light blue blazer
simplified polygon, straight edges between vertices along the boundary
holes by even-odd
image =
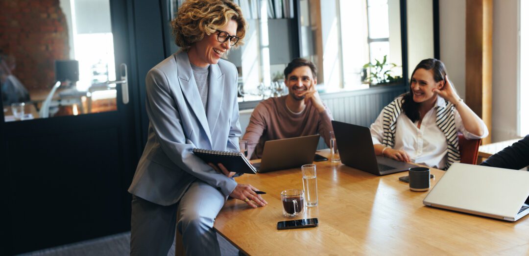
[[[211,141],[211,132],[209,132],[206,112],[204,111],[202,100],[200,100],[200,94],[198,93],[195,77],[193,76],[193,70],[191,70],[191,64],[189,63],[187,53],[181,52],[177,54],[176,58],[180,88],[186,97],[187,104],[191,106],[191,110],[193,110],[198,122],[202,126],[202,129],[204,132],[206,132],[207,139],[209,141],[209,147],[212,148],[213,143]]]

